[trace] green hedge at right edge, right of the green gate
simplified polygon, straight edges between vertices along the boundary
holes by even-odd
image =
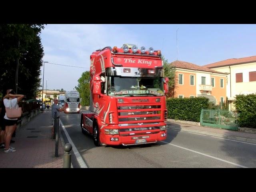
[[[256,94],[236,95],[234,102],[241,127],[256,128]]]

